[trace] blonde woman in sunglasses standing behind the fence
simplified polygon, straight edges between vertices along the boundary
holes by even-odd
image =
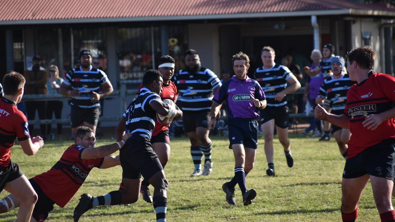
[[[63,79],[59,77],[58,66],[49,66],[49,81],[47,83],[48,95],[59,94],[60,85],[63,83]],[[47,119],[52,119],[52,113],[55,113],[55,119],[61,119],[63,101],[48,101],[47,102]],[[62,124],[57,124],[57,138],[60,139],[62,135]],[[47,135],[51,134],[52,124],[47,125]]]

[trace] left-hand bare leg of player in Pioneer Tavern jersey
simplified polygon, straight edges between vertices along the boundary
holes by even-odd
[[[357,204],[368,181],[368,174],[352,179],[343,178],[341,206],[342,216],[349,216],[351,214],[357,215]]]

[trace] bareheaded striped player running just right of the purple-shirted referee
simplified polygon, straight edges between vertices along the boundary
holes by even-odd
[[[255,79],[265,92],[267,107],[260,112],[263,134],[265,134],[265,154],[269,169],[268,176],[275,176],[273,163],[273,136],[276,126],[278,140],[284,148],[288,167],[293,166],[290,140],[288,139],[289,109],[286,94],[295,92],[300,88],[300,83],[292,72],[286,67],[275,64],[275,51],[272,47],[265,46],[261,50],[263,66],[256,69]],[[287,83],[290,86],[287,88]]]

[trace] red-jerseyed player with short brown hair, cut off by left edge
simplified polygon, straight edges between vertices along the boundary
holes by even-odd
[[[17,72],[4,76],[4,97],[0,99],[0,192],[4,189],[21,200],[17,221],[29,221],[37,194],[25,175],[10,159],[10,150],[18,138],[23,152],[28,156],[34,155],[43,147],[41,137],[30,139],[28,122],[25,115],[17,109],[21,102],[25,79]]]

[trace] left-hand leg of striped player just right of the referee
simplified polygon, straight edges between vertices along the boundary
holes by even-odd
[[[265,155],[269,169],[266,170],[268,176],[275,176],[274,163],[273,163],[273,137],[274,137],[275,120],[269,120],[261,125],[261,129],[265,138]]]

